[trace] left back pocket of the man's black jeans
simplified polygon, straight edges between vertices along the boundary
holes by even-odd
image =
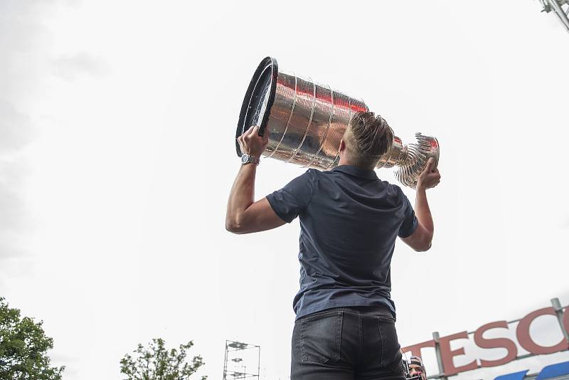
[[[324,364],[339,361],[344,312],[320,312],[301,323],[300,352],[303,362]]]

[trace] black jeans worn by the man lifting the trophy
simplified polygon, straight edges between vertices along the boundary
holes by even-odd
[[[405,380],[395,319],[384,308],[339,307],[294,323],[291,380]]]

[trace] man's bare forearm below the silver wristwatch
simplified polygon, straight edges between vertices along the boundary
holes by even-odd
[[[225,228],[228,230],[239,228],[240,217],[255,201],[255,174],[257,165],[241,165],[233,187],[229,194],[227,213],[225,214]]]

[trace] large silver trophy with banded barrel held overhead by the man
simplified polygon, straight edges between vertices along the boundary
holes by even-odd
[[[257,67],[241,106],[235,139],[252,125],[269,133],[265,157],[302,167],[334,169],[339,162],[340,140],[358,111],[367,111],[363,100],[354,99],[327,85],[279,71],[277,60],[267,57]],[[397,179],[415,189],[417,179],[433,157],[439,161],[435,137],[415,134],[417,144],[405,145],[397,136],[379,159],[377,168],[398,167]],[[235,141],[238,156],[241,149]]]

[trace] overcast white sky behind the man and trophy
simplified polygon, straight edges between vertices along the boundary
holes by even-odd
[[[66,380],[120,379],[119,359],[153,337],[193,339],[210,379],[221,378],[225,339],[260,344],[262,379],[286,379],[298,223],[224,229],[240,105],[273,56],[362,97],[404,142],[439,139],[433,248],[398,243],[392,263],[403,346],[514,320],[552,297],[569,304],[569,34],[540,10],[532,0],[1,1],[0,295],[45,321]],[[265,159],[257,196],[303,171]],[[553,319],[534,330],[543,344],[560,339]],[[473,358],[464,344],[457,364]]]

